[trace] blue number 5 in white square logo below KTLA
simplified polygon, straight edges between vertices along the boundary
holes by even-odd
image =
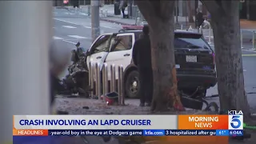
[[[229,130],[243,130],[242,114],[229,114]]]

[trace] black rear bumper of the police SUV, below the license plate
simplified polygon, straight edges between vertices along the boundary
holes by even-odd
[[[214,75],[177,74],[178,88],[197,88],[198,86],[209,89],[215,86],[217,78]]]

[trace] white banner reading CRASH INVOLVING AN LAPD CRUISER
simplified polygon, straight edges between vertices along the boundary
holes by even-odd
[[[177,115],[14,115],[15,130],[177,130]]]

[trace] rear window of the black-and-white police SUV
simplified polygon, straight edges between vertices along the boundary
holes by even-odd
[[[175,34],[174,48],[182,49],[206,49],[210,50],[210,46],[202,38],[201,34]]]

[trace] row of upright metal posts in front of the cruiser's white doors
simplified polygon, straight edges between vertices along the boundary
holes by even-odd
[[[114,64],[107,65],[106,63],[103,63],[101,66],[99,62],[89,62],[88,68],[90,78],[89,86],[92,89],[90,95],[106,102],[104,97],[105,94],[117,92],[118,105],[124,105],[125,93],[123,84],[123,66],[120,65],[116,67]]]

